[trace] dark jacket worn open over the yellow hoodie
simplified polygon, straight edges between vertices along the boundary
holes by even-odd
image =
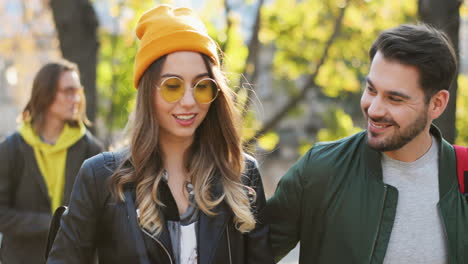
[[[101,151],[89,132],[68,149],[63,204],[83,161]],[[0,143],[2,263],[44,263],[50,219],[51,202],[34,150],[16,132]]]

